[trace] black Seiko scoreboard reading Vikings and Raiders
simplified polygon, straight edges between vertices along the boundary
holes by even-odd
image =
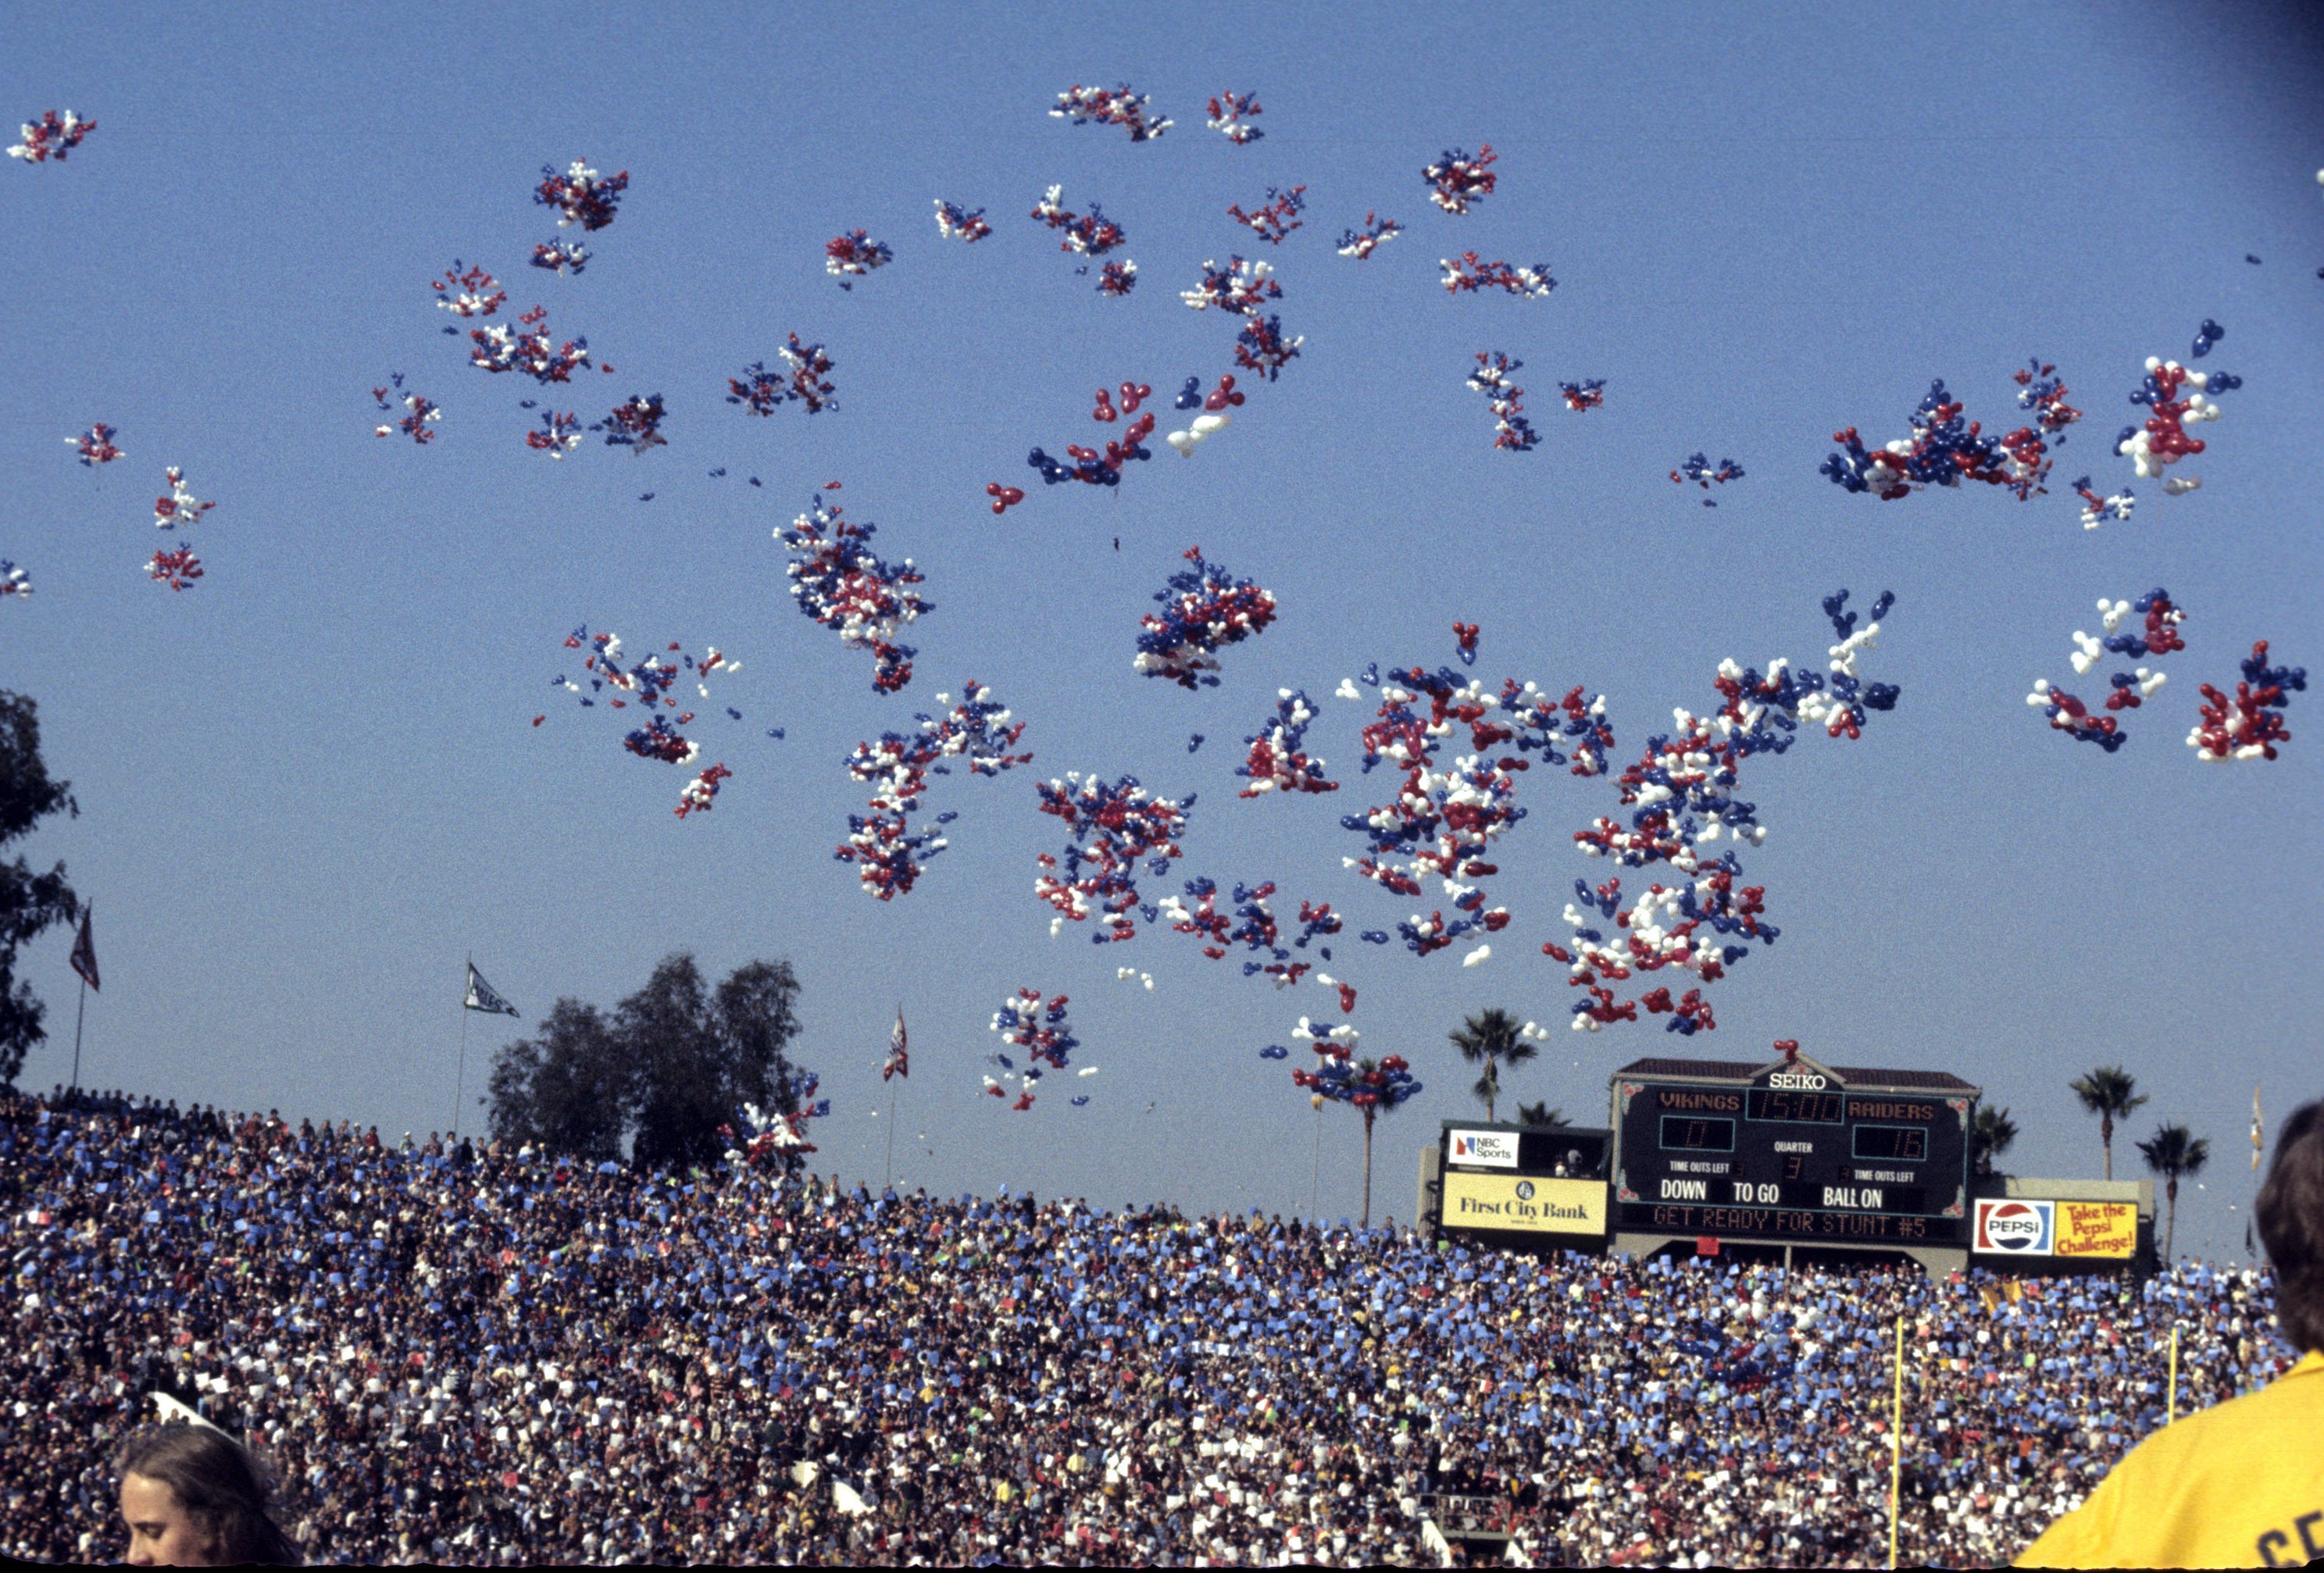
[[[1934,1071],[1638,1060],[1613,1078],[1624,1234],[1966,1245],[1978,1087]]]

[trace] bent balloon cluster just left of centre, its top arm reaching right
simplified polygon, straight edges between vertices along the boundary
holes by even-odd
[[[913,716],[911,732],[883,732],[876,744],[855,744],[848,776],[871,785],[871,813],[848,816],[848,839],[832,857],[853,862],[867,895],[892,902],[920,878],[920,869],[948,843],[939,832],[916,832],[911,816],[927,795],[930,776],[948,776],[951,762],[967,764],[974,776],[999,776],[1032,760],[1009,753],[1025,737],[1025,723],[1009,725],[1009,706],[992,690],[969,681],[960,704],[941,716]],[[951,704],[951,695],[937,695]],[[939,813],[937,825],[951,825],[955,813]]]

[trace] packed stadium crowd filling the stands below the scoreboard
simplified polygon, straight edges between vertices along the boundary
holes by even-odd
[[[328,1561],[1994,1564],[2289,1366],[2264,1276],[1504,1257],[0,1090],[0,1554],[121,1554],[153,1389]],[[1455,1499],[1457,1510],[1450,1508]],[[1455,1536],[1457,1538],[1457,1536]]]

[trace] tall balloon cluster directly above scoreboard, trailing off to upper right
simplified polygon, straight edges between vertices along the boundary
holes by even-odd
[[[1601,818],[1590,829],[1573,832],[1576,846],[1590,857],[1613,857],[1627,869],[1669,864],[1685,876],[1680,885],[1648,885],[1629,906],[1622,904],[1622,881],[1611,878],[1597,890],[1573,881],[1576,904],[1566,904],[1573,948],[1541,946],[1569,964],[1566,983],[1585,992],[1573,1004],[1573,1027],[1597,1032],[1608,1022],[1634,1022],[1643,1006],[1650,1015],[1669,1015],[1669,1032],[1692,1036],[1717,1027],[1701,992],[1671,999],[1669,990],[1648,990],[1636,999],[1618,999],[1618,983],[1641,971],[1676,967],[1701,983],[1715,983],[1729,967],[1750,955],[1752,943],[1776,943],[1778,929],[1766,922],[1766,888],[1741,885],[1734,853],[1717,860],[1703,848],[1720,839],[1757,846],[1766,839],[1757,809],[1734,795],[1743,760],[1757,753],[1785,753],[1801,723],[1822,727],[1829,737],[1862,737],[1868,711],[1896,709],[1896,688],[1864,683],[1857,667],[1864,651],[1880,637],[1880,618],[1894,597],[1882,592],[1871,609],[1871,623],[1857,630],[1848,611],[1848,590],[1824,597],[1838,644],[1829,648],[1829,676],[1794,674],[1787,660],[1776,660],[1762,676],[1734,660],[1720,662],[1713,685],[1720,709],[1710,716],[1673,711],[1676,732],[1650,737],[1636,764],[1618,776],[1629,823]],[[1620,934],[1611,939],[1599,920]]]

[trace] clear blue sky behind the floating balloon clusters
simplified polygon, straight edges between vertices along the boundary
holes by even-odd
[[[1355,774],[1367,711],[1327,699],[1339,678],[1443,665],[1450,623],[1473,620],[1480,676],[1606,692],[1629,757],[1671,706],[1710,702],[1720,658],[1820,662],[1817,599],[1887,588],[1868,674],[1901,683],[1899,711],[1745,776],[1771,827],[1745,869],[1785,934],[1715,985],[1715,1034],[1559,1025],[1571,994],[1538,943],[1564,934],[1571,878],[1606,876],[1569,843],[1615,809],[1606,783],[1527,783],[1492,962],[1336,950],[1364,1048],[1429,1083],[1385,1127],[1378,1211],[1408,1213],[1411,1150],[1471,1108],[1443,1034],[1504,1006],[1557,1025],[1515,1097],[1601,1120],[1636,1055],[1755,1057],[1796,1036],[1841,1064],[1978,1080],[2024,1127],[2027,1173],[2096,1169],[2064,1083],[2124,1062],[2154,1101],[2122,1155],[2150,1115],[2208,1134],[2219,1169],[2187,1192],[2182,1238],[2240,1248],[2252,1083],[2271,1122],[2324,1092],[2303,709],[2324,699],[2294,702],[2275,764],[2199,767],[2180,739],[2196,685],[2231,683],[2252,639],[2324,655],[2324,72],[2296,12],[1964,7],[1938,28],[1857,7],[1527,9],[1469,19],[1457,42],[1418,12],[1339,7],[1202,30],[1092,7],[560,19],[0,23],[0,112],[100,121],[67,165],[0,172],[0,555],[37,583],[0,606],[0,681],[40,699],[81,802],[30,850],[65,857],[98,904],[88,1080],[425,1132],[451,1101],[469,950],[530,1015],[560,994],[609,1004],[679,948],[720,971],[783,955],[804,985],[797,1055],[837,1104],[823,1159],[848,1178],[878,1173],[876,1066],[902,1001],[902,1178],[1304,1211],[1315,1115],[1257,1048],[1299,1013],[1336,1018],[1332,1001],[1167,932],[1053,941],[1032,878],[1057,836],[1032,778],[1197,792],[1185,876],[1274,878],[1292,908],[1329,899],[1350,927],[1392,927],[1411,904],[1341,869],[1357,846],[1339,816],[1387,778]],[[1118,79],[1176,128],[1134,146],[1048,118],[1060,88]],[[1260,95],[1264,139],[1204,130],[1220,88]],[[1420,167],[1478,142],[1499,193],[1469,218],[1434,211]],[[588,272],[555,279],[523,265],[558,235],[530,191],[572,158],[627,170],[630,193]],[[1281,249],[1225,216],[1301,181],[1306,228]],[[1127,228],[1129,300],[1099,300],[1025,218],[1050,184]],[[995,235],[939,242],[939,195],[988,209]],[[1336,256],[1367,209],[1406,235]],[[841,293],[823,242],[858,225],[895,265]],[[1436,260],[1464,249],[1548,260],[1559,288],[1448,297]],[[1301,358],[1192,460],[1155,444],[1116,490],[1039,488],[1030,446],[1104,434],[1092,388],[1227,369],[1232,325],[1176,293],[1236,251],[1278,267]],[[456,256],[618,367],[560,409],[662,393],[669,446],[525,451],[530,383],[467,367],[442,335],[428,279]],[[2205,316],[2229,328],[2208,365],[2245,388],[2189,465],[2203,490],[2136,483],[2129,523],[2085,532],[2064,481],[2129,481],[2106,441],[2124,395]],[[725,379],[792,330],[827,344],[839,409],[725,404]],[[1525,360],[1534,453],[1490,446],[1462,383],[1487,349]],[[2087,411],[2052,495],[1882,504],[1817,476],[1836,428],[1903,434],[1934,376],[2017,425],[2027,355]],[[390,372],[444,407],[432,446],[372,437],[367,390]],[[1557,381],[1583,376],[1606,379],[1606,407],[1571,416]],[[100,418],[128,458],[88,472],[63,439]],[[1717,509],[1666,479],[1697,448],[1748,469]],[[139,572],[163,465],[218,502],[186,595]],[[927,572],[937,611],[895,697],[783,588],[769,532],[827,479]],[[1032,486],[1006,518],[985,507],[995,479]],[[1283,616],[1227,655],[1222,688],[1188,695],[1129,655],[1197,541]],[[2045,730],[2031,681],[2071,676],[2096,597],[2157,583],[2189,609],[2189,651],[2131,744],[2101,755]],[[741,658],[723,699],[748,725],[704,732],[734,769],[713,813],[676,820],[679,771],[551,692],[576,623],[632,653]],[[1037,760],[941,783],[953,848],[909,897],[871,902],[830,857],[862,799],[841,757],[971,676],[1030,723]],[[1234,797],[1236,739],[1281,685],[1322,706],[1308,741],[1339,795]],[[1208,737],[1195,755],[1190,732]],[[28,1085],[70,1062],[65,950],[28,957],[58,1029]],[[1120,964],[1155,990],[1118,983]],[[1064,1090],[1030,1115],[978,1097],[985,1022],[1018,985],[1074,997],[1076,1064],[1102,1066],[1074,1087],[1088,1108]],[[472,1090],[502,1022],[476,1027]],[[1325,1113],[1320,1187],[1327,1215],[1355,1211],[1346,1111]]]

